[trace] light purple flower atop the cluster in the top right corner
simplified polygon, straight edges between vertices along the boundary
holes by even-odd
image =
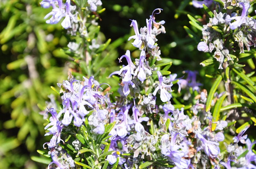
[[[246,15],[247,15],[247,11],[248,9],[250,8],[250,4],[249,3],[239,3],[243,6],[243,10],[242,10],[242,14],[241,16],[237,16],[237,17],[231,17],[228,21],[230,22],[229,23],[229,27],[230,29],[234,30],[236,28],[238,28],[239,26],[241,26],[242,24],[246,23]],[[236,21],[235,22],[232,22],[231,21],[235,19]]]

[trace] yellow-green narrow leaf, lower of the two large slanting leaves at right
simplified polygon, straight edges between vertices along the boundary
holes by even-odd
[[[213,113],[212,113],[212,131],[215,130],[216,128],[216,125],[217,125],[217,121],[219,120],[219,117],[220,117],[220,108],[221,108],[221,105],[225,99],[225,97],[227,96],[228,94],[225,93],[224,95],[222,95],[220,97],[219,100],[217,100],[217,102],[215,103],[215,108],[213,110]]]

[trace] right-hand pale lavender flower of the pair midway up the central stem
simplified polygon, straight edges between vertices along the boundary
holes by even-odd
[[[146,79],[146,72],[151,75],[151,68],[148,66],[148,62],[145,59],[145,51],[142,50],[140,52],[140,62],[139,66],[136,68],[134,71],[134,76],[137,76],[138,74],[138,79],[143,83],[143,81]],[[144,65],[144,60],[146,61],[147,67]],[[139,73],[138,73],[139,72]]]

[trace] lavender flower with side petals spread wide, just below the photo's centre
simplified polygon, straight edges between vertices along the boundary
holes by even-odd
[[[135,102],[135,101],[134,101]],[[140,117],[138,118],[138,113],[139,113],[139,110],[135,107],[135,103],[134,103],[134,106],[132,107],[132,112],[133,112],[133,120],[129,120],[128,124],[135,124],[135,131],[137,132],[141,132],[141,131],[144,131],[144,127],[143,125],[141,124],[141,122],[147,122],[149,120],[148,117]]]

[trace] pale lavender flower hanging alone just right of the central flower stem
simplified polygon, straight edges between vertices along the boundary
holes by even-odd
[[[171,94],[165,89],[168,88],[170,91],[172,91],[172,83],[170,85],[164,84],[163,76],[161,72],[157,71],[157,76],[159,80],[159,84],[156,87],[155,91],[153,92],[153,95],[156,95],[156,92],[160,89],[160,99],[162,102],[167,102],[171,99]]]

